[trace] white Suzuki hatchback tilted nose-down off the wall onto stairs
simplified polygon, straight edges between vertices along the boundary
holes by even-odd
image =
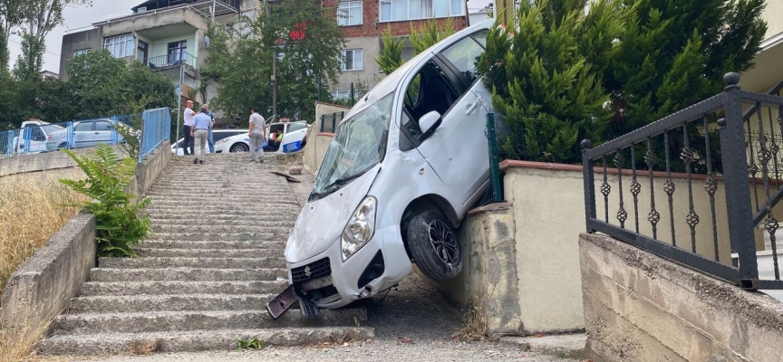
[[[421,52],[346,114],[285,246],[291,286],[273,317],[292,299],[313,315],[372,297],[413,263],[436,281],[459,274],[455,229],[489,186],[491,92],[475,62],[492,24]]]

